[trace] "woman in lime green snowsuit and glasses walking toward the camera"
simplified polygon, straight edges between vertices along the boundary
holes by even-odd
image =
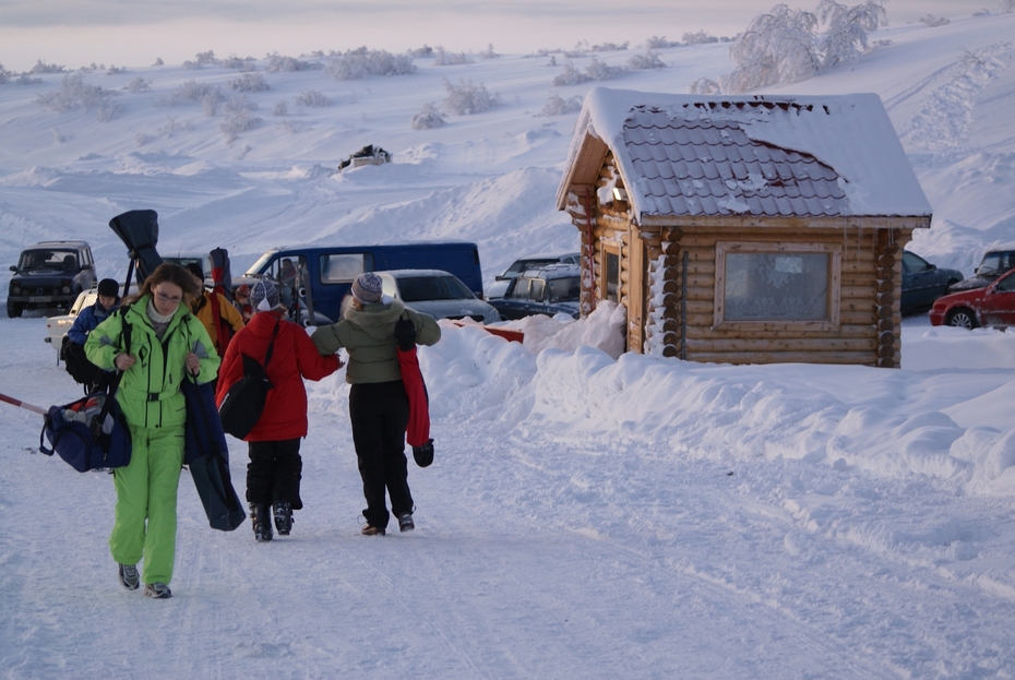
[[[96,366],[123,371],[117,392],[130,427],[130,465],[114,472],[116,522],[109,550],[119,565],[120,583],[139,585],[138,562],[144,560],[144,594],[171,596],[169,582],[176,559],[176,501],[183,463],[187,407],[180,383],[187,372],[211,382],[218,372],[204,325],[189,302],[200,284],[183,267],[160,264],[145,279],[139,296],[100,323],[85,343]],[[130,346],[123,325],[130,324]]]

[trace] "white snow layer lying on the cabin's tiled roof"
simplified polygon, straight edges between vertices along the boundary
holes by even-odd
[[[717,176],[719,184],[727,184],[719,189],[724,194],[729,193],[729,196],[716,195],[715,189],[707,190],[698,186],[698,195],[706,201],[713,199],[712,203],[705,207],[692,203],[690,208],[680,202],[664,205],[670,210],[686,211],[676,214],[750,212],[769,215],[931,215],[930,203],[916,179],[881,98],[875,94],[708,97],[596,87],[585,98],[569,153],[569,166],[577,158],[586,134],[602,140],[612,150],[628,181],[630,200],[637,215],[662,213],[655,198],[657,190],[654,191],[647,182],[641,181],[643,174],[634,163],[631,145],[648,143],[679,146],[686,143],[683,139],[686,134],[673,134],[667,140],[638,131],[640,121],[645,118],[644,112],[653,110],[657,114],[666,112],[670,119],[669,130],[673,132],[682,128],[700,128],[701,123],[724,129],[727,135],[730,131],[742,131],[756,145],[774,147],[772,151],[779,154],[784,166],[789,154],[789,163],[796,164],[798,168],[801,167],[801,160],[814,159],[838,177],[840,192],[829,192],[820,184],[827,182],[831,176],[812,170],[810,179],[816,180],[819,184],[817,200],[814,200],[814,191],[810,191],[811,195],[808,196],[808,190],[804,189],[804,198],[812,199],[810,203],[797,202],[789,206],[787,199],[779,204],[772,202],[762,206],[756,201],[745,200],[751,194],[741,193],[744,189],[741,180],[749,177],[739,177],[744,175],[743,169],[735,171],[731,162],[723,157],[720,152],[718,158],[709,155],[698,159],[717,166],[712,174]],[[726,146],[736,145],[736,141],[729,136],[721,143]],[[799,157],[792,154],[799,154]],[[656,157],[666,156],[656,152]],[[810,186],[808,172],[797,169],[796,174]],[[768,169],[757,179],[778,179],[777,176],[777,171]],[[738,184],[732,187],[731,193],[726,180]],[[753,189],[755,187],[748,187],[749,191]],[[667,193],[671,196],[685,195],[685,189],[682,190],[678,182],[670,182]],[[841,195],[845,195],[845,202],[838,200]]]

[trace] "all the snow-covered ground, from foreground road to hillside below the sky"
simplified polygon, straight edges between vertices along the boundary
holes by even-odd
[[[879,94],[934,210],[910,248],[970,274],[1015,240],[1013,35],[996,13],[883,29],[860,63],[767,92]],[[492,283],[577,246],[553,200],[577,110],[544,114],[594,85],[684,93],[727,49],[659,49],[647,70],[631,47],[356,80],[326,55],[13,79],[0,295],[43,239],[84,238],[122,278],[107,223],[132,208],[158,212],[164,254],[226,247],[235,272],[286,243],[455,238]],[[568,64],[617,77],[553,85]],[[463,99],[492,106],[452,112]],[[445,124],[414,129],[428,104]],[[335,172],[367,144],[393,163]],[[1011,333],[906,319],[900,370],[688,365],[588,346],[609,312],[532,319],[525,346],[442,324],[410,535],[359,535],[348,386],[310,384],[292,536],[211,530],[184,474],[167,603],[116,583],[110,479],[29,455],[40,418],[0,404],[0,675],[1012,677]],[[0,319],[0,392],[76,396],[44,335],[41,313]]]

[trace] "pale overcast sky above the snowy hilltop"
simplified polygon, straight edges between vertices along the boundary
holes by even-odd
[[[855,4],[861,0],[840,0]],[[581,40],[679,40],[705,29],[733,36],[777,0],[0,0],[0,63],[20,72],[39,59],[76,69],[93,62],[181,63],[198,52],[261,58],[345,51],[366,45],[402,52],[530,53]],[[817,0],[788,2],[814,11]],[[956,16],[1000,0],[888,0],[888,22]]]

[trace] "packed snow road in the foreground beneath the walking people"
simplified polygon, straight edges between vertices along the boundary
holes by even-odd
[[[0,391],[49,405],[76,386],[44,326],[0,320],[11,348]],[[607,420],[583,413],[605,398],[594,384],[559,408],[544,396],[578,382],[564,353],[536,361],[478,333],[445,327],[423,355],[438,449],[433,466],[410,464],[415,532],[359,534],[335,375],[310,386],[306,509],[290,537],[210,529],[184,473],[165,603],[117,584],[109,477],[31,455],[40,418],[3,405],[2,675],[783,679],[1013,667],[1011,581],[964,568],[991,553],[1010,562],[1010,498],[763,451],[681,454],[650,421],[587,437],[586,419]],[[554,390],[539,385],[548,371]],[[738,432],[731,422],[726,436]],[[242,494],[246,446],[231,453]]]

